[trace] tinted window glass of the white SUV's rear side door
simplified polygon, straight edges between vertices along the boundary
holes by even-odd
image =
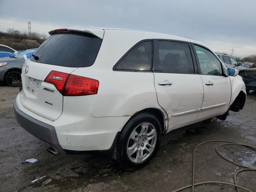
[[[154,53],[154,71],[194,73],[190,48],[187,43],[158,41]]]

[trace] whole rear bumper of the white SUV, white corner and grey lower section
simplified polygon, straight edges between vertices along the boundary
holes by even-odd
[[[72,98],[69,98],[72,99]],[[82,98],[77,98],[77,100]],[[18,123],[30,134],[46,142],[58,153],[71,151],[111,151],[129,116],[94,118],[84,115],[72,103],[55,121],[48,120],[24,108],[20,94],[14,99],[14,112]],[[71,112],[70,112],[71,111]],[[77,112],[78,113],[75,113]],[[80,116],[79,116],[80,115]]]

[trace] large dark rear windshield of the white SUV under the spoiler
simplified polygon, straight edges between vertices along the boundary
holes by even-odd
[[[31,57],[34,62],[64,67],[91,66],[100,50],[102,39],[92,34],[67,32],[51,35]]]

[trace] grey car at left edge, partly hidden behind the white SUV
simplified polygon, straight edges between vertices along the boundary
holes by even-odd
[[[21,80],[21,69],[25,62],[24,55],[28,58],[36,49],[28,49],[11,57],[0,58],[0,81],[12,86],[13,81]]]

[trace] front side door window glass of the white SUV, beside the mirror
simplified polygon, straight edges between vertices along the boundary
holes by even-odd
[[[221,75],[222,68],[220,61],[216,58],[212,52],[205,48],[196,46],[196,54],[198,56],[201,73],[205,75]]]

